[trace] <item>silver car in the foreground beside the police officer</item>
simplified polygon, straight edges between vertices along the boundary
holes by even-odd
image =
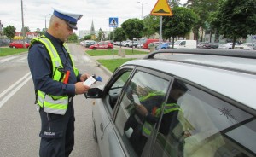
[[[85,94],[101,155],[256,156],[255,60],[247,50],[161,49],[126,62]]]

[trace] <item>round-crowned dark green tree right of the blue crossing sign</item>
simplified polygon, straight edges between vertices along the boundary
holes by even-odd
[[[125,31],[125,35],[132,40],[133,38],[142,38],[143,37],[143,20],[128,19],[122,23],[121,27]]]

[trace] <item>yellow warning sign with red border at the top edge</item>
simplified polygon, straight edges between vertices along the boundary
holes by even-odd
[[[172,10],[168,5],[167,0],[158,0],[150,15],[172,16]]]

